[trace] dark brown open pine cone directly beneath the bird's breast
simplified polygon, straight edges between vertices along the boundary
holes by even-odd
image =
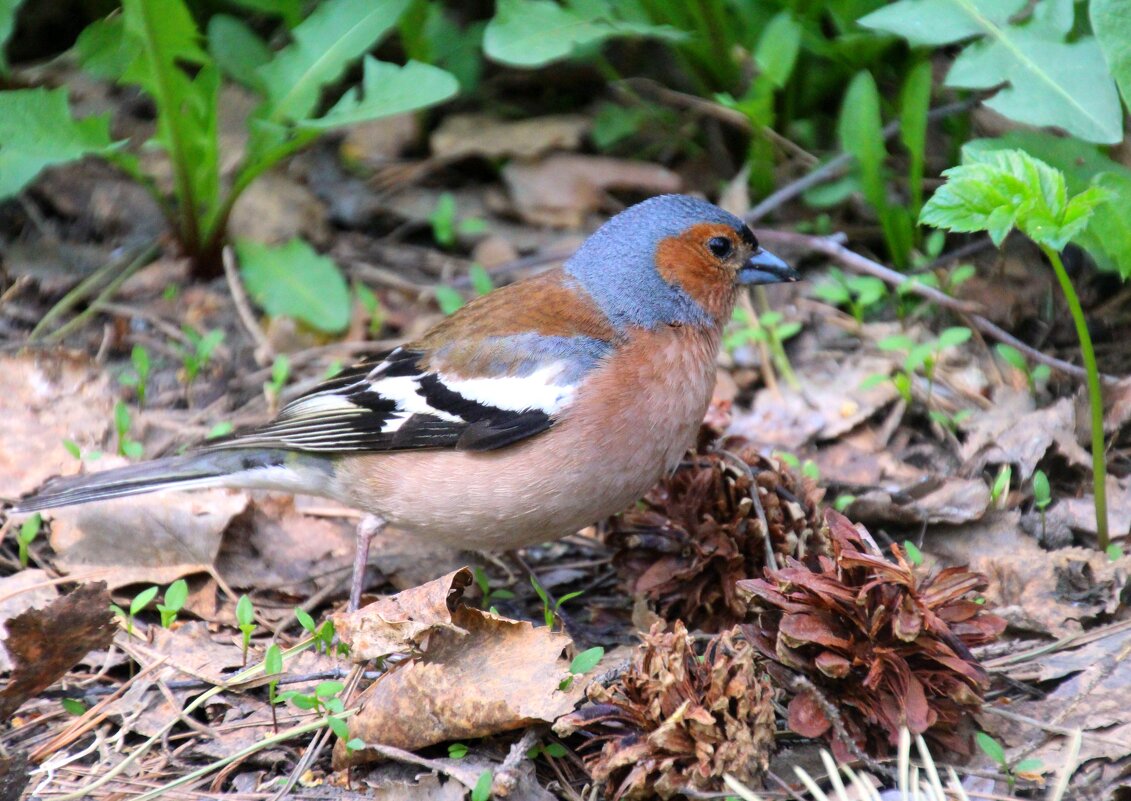
[[[613,562],[632,594],[665,620],[720,631],[746,619],[735,585],[762,575],[767,548],[778,560],[812,565],[828,553],[818,511],[823,494],[749,441],[719,440],[613,520]]]

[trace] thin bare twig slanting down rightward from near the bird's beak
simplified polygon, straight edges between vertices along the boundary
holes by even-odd
[[[760,230],[757,233],[759,239],[765,242],[821,253],[822,256],[827,256],[852,270],[864,273],[865,275],[873,275],[880,281],[891,284],[892,286],[900,286],[906,284],[908,281],[907,276],[901,273],[897,273],[893,269],[884,267],[878,261],[873,261],[865,256],[853,252],[848,248],[845,248],[843,244],[837,243],[828,236],[810,236],[808,234],[792,233],[788,231],[768,230]],[[941,292],[933,286],[925,286],[924,284],[917,282],[910,285],[909,291],[920,298],[925,298],[932,303],[938,303],[939,305],[958,312],[959,315],[967,315],[972,327],[977,328],[983,334],[998,339],[999,342],[1012,345],[1031,361],[1041,364],[1047,364],[1048,367],[1060,370],[1072,378],[1083,379],[1087,377],[1083,368],[1077,367],[1071,362],[1065,362],[1062,359],[1056,359],[1055,356],[1042,353],[982,317],[982,315],[977,313],[982,309],[982,307],[977,303],[951,298],[947,293]],[[1108,376],[1106,373],[1100,374],[1100,379],[1107,384],[1114,384],[1119,380],[1115,376]]]

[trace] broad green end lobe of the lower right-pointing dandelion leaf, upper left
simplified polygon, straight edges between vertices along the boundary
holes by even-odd
[[[459,91],[450,72],[420,61],[398,67],[366,55],[364,63],[362,85],[346,92],[323,117],[303,120],[303,128],[329,130],[404,114],[435,105]]]

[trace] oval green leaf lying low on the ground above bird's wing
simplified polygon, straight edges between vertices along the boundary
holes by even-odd
[[[235,243],[248,292],[267,313],[293,317],[327,334],[349,325],[349,287],[333,259],[301,239],[270,247]]]

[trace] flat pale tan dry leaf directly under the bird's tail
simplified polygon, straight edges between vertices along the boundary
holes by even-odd
[[[228,490],[162,492],[52,510],[57,567],[111,589],[169,584],[209,570],[248,497]]]

